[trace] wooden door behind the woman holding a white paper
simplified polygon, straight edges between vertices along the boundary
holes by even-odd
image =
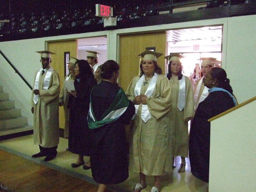
[[[66,66],[66,61],[64,61],[64,52],[70,52],[70,56],[77,58],[77,40],[69,41],[56,41],[49,42],[49,51],[56,54],[52,54],[52,63],[51,67],[57,71],[60,75],[60,88],[62,89],[64,81],[64,71]],[[63,107],[59,108],[59,119],[60,119],[60,128],[64,129],[65,119],[64,119],[64,109]]]

